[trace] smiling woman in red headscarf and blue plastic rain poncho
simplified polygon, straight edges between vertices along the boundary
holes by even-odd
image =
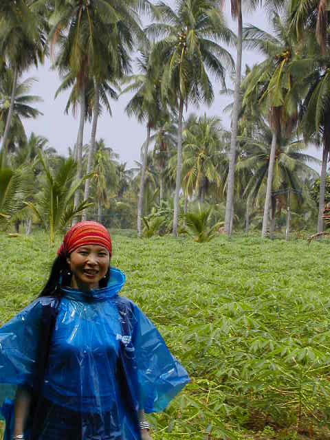
[[[189,382],[110,268],[100,223],[67,232],[37,300],[0,329],[5,440],[149,440],[144,412]],[[11,399],[10,399],[11,397]]]

